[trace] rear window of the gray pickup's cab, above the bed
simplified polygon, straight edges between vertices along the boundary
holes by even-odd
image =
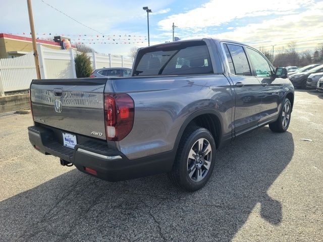
[[[151,47],[139,52],[138,57],[134,76],[213,73],[207,46],[202,41]]]

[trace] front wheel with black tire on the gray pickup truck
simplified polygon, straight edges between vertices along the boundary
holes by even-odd
[[[288,110],[285,109],[285,106],[288,106]],[[290,121],[291,121],[291,112],[292,112],[291,102],[289,101],[288,98],[285,98],[285,100],[283,102],[282,109],[279,113],[279,116],[278,116],[276,122],[269,124],[269,128],[273,132],[276,132],[276,133],[285,132],[288,129]]]

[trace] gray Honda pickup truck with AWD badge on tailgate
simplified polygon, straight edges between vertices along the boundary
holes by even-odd
[[[168,172],[187,191],[209,179],[216,151],[269,124],[285,132],[294,88],[256,49],[229,40],[137,51],[132,76],[33,80],[33,147],[109,181]]]

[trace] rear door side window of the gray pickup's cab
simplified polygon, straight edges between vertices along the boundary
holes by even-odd
[[[243,50],[243,47],[235,44],[227,44],[227,46],[232,59],[231,60],[232,66],[230,66],[230,63],[229,63],[230,72],[237,76],[251,76],[248,59],[247,59],[246,53]],[[227,51],[226,51],[226,55],[228,58]],[[228,59],[228,62],[229,62],[229,59]],[[232,68],[234,68],[234,70],[232,70]]]

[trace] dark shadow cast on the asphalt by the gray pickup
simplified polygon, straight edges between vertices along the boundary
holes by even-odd
[[[293,153],[291,133],[263,127],[219,151],[209,183],[195,193],[174,188],[165,174],[109,183],[74,169],[0,202],[0,234],[3,241],[229,241],[257,204],[262,219],[280,224],[282,204],[268,189]]]

